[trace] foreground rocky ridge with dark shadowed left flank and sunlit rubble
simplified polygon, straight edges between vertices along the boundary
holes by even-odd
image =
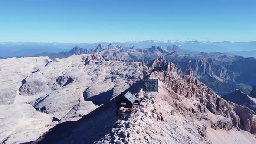
[[[156,59],[153,65],[164,63]],[[120,119],[116,101],[126,92],[141,98],[142,80],[82,119],[62,123],[43,134],[35,144],[217,144],[255,143],[256,115],[249,108],[224,100],[194,76],[175,70],[152,71],[144,78],[158,79],[155,98],[144,99],[135,113]],[[102,123],[104,121],[104,123]],[[220,137],[220,135],[225,135]]]

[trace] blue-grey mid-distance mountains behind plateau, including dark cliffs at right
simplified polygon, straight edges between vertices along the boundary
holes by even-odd
[[[59,53],[43,53],[33,55],[49,56],[50,59],[66,58],[71,55],[99,53],[106,59],[123,62],[148,63],[159,56],[177,65],[177,72],[186,75],[192,69],[194,76],[212,88],[219,95],[226,95],[235,89],[240,89],[249,95],[252,86],[256,85],[256,59],[253,57],[235,56],[221,52],[197,52],[181,49],[179,46],[151,46],[150,48],[124,47],[109,44],[98,44],[92,49],[74,47],[70,51]]]

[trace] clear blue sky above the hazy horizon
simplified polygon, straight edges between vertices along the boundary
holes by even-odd
[[[256,0],[1,0],[0,41],[256,41]]]

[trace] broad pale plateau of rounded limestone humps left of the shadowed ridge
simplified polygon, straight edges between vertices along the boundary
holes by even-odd
[[[15,99],[28,102],[58,119],[79,104],[79,99],[102,105],[148,72],[141,62],[105,61],[98,54],[52,61],[48,57],[12,58],[0,60],[0,64],[0,104]]]

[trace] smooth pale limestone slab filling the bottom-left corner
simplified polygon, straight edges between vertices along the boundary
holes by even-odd
[[[56,124],[52,119],[29,104],[0,105],[0,143],[34,141]]]

